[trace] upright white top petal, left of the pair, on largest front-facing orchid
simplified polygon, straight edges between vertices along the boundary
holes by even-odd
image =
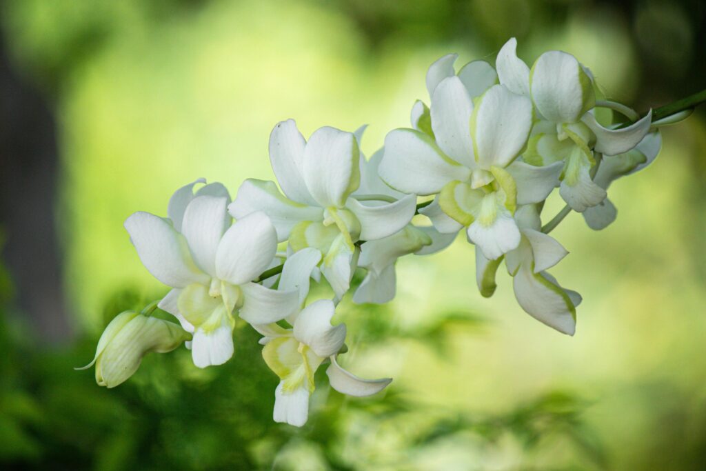
[[[460,78],[443,79],[431,96],[431,129],[436,143],[456,162],[474,168],[469,122],[473,102]]]

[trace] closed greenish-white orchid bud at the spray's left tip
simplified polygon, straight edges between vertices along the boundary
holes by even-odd
[[[95,364],[98,386],[114,388],[135,374],[145,354],[171,352],[189,339],[191,334],[177,323],[125,311],[103,331],[92,362],[77,369]]]

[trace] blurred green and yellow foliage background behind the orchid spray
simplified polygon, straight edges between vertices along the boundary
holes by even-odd
[[[6,0],[0,3],[0,466],[6,469],[706,469],[706,114],[664,130],[658,160],[577,214],[555,270],[584,295],[569,338],[483,299],[462,238],[398,263],[386,306],[343,304],[345,362],[393,376],[343,398],[318,378],[309,424],[271,419],[257,335],[196,369],[145,357],[119,388],[87,363],[109,320],[165,287],[122,227],[165,214],[197,177],[272,178],[268,135],[297,119],[369,124],[370,155],[407,126],[424,73],[563,49],[645,112],[706,86],[706,4],[571,0]],[[561,207],[551,201],[548,214]]]

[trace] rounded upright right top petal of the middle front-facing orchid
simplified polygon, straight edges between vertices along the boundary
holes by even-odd
[[[304,181],[323,208],[341,208],[360,184],[358,143],[352,133],[325,126],[311,135],[304,149]]]

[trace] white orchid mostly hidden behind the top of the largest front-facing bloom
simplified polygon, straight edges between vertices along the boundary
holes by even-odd
[[[456,59],[458,54],[446,54],[429,66],[429,70],[426,71],[426,90],[429,91],[429,98],[433,97],[436,86],[448,77],[457,76],[471,98],[483,95],[486,90],[498,83],[498,74],[486,61],[471,61],[456,73],[453,65]],[[414,102],[410,121],[413,129],[429,134],[431,137],[434,136],[429,107],[421,100]]]

